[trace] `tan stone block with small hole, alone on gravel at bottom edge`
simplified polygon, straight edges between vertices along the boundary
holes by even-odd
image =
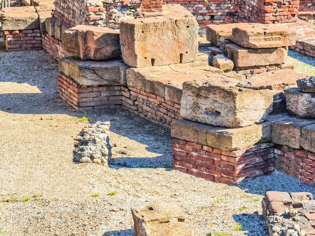
[[[131,208],[135,236],[195,235],[174,203]]]

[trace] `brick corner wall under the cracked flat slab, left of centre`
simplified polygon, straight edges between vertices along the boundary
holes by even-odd
[[[86,87],[59,72],[59,96],[77,111],[113,109],[121,106],[121,86]]]

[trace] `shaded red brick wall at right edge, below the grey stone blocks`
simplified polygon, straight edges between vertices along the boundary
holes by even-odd
[[[304,183],[314,184],[315,154],[286,146],[275,147],[277,170],[299,178]]]

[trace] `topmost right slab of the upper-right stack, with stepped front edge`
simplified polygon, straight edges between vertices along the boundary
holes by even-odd
[[[246,48],[280,48],[295,45],[296,32],[279,24],[243,24],[232,29],[230,41]]]

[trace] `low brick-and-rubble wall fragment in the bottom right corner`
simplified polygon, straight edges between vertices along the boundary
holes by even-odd
[[[315,235],[315,200],[307,192],[266,192],[262,202],[270,236]]]

